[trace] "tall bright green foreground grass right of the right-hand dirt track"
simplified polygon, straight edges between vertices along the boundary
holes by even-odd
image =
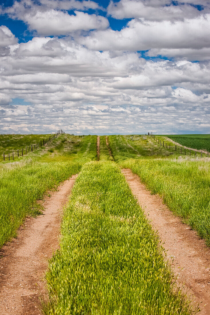
[[[164,203],[210,246],[210,164],[203,160],[134,160],[121,162],[137,174]]]

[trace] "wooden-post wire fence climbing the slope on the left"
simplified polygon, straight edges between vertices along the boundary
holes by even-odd
[[[51,143],[51,141],[53,141],[55,138],[58,137],[58,135],[61,135],[61,134],[65,134],[65,132],[62,129],[59,129],[58,132],[55,132],[55,134],[50,135],[50,137],[40,140],[40,142],[38,143],[30,144],[29,146],[14,150],[12,152],[3,152],[3,154],[1,154],[0,156],[0,161],[3,162],[3,161],[14,160],[17,157],[21,157],[28,153],[34,152],[38,150],[38,148],[45,146],[48,143]]]

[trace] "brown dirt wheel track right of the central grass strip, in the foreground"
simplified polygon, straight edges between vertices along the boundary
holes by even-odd
[[[178,275],[178,283],[192,290],[200,304],[199,314],[209,315],[210,249],[195,231],[172,214],[162,198],[150,194],[137,175],[130,169],[122,169],[122,173],[145,214],[152,220],[152,226],[158,231],[168,258],[173,259],[172,267]]]

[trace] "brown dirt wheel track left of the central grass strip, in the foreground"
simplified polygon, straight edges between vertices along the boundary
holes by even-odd
[[[60,215],[76,175],[46,197],[44,215],[28,218],[17,238],[0,251],[0,315],[38,315],[39,292],[52,252],[58,249]]]

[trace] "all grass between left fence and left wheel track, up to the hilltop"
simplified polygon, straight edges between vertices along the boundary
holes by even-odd
[[[0,163],[0,247],[26,216],[40,213],[37,199],[77,174],[83,163],[96,160],[96,139],[63,134],[25,157]]]

